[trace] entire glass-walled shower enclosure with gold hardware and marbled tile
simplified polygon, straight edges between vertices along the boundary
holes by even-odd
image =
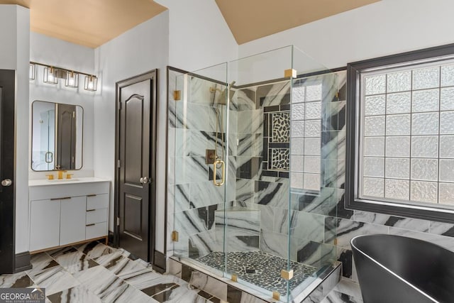
[[[341,196],[331,120],[343,79],[294,46],[169,68],[172,260],[270,302],[301,302],[336,269],[325,218]]]

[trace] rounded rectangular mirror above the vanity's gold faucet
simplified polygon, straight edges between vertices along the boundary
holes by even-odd
[[[31,169],[80,170],[84,109],[79,105],[32,103]]]

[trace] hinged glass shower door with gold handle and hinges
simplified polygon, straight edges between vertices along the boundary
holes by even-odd
[[[180,72],[173,94],[174,255],[222,275],[222,209],[228,186],[226,64]],[[214,262],[200,261],[207,256]]]

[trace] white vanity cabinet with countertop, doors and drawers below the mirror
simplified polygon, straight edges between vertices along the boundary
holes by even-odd
[[[109,181],[31,180],[30,251],[108,235]]]

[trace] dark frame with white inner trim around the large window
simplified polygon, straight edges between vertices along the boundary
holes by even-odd
[[[454,209],[446,206],[428,206],[426,204],[385,202],[380,199],[360,199],[358,184],[360,174],[360,81],[362,72],[389,69],[397,66],[422,64],[424,61],[436,61],[454,58],[454,43],[424,48],[397,55],[377,57],[370,60],[348,63],[347,65],[347,101],[346,101],[346,162],[345,162],[345,208],[371,211],[393,216],[405,216],[416,219],[454,223]],[[412,204],[413,203],[413,204]]]

